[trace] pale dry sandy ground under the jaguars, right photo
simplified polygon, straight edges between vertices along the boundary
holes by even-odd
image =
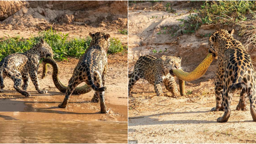
[[[138,140],[138,143],[256,142],[256,126],[250,111],[235,111],[238,93],[233,96],[228,122],[216,122],[224,112],[210,111],[215,107],[214,79],[186,82],[186,91],[192,94],[177,99],[172,98],[164,86],[164,97],[157,97],[154,86],[142,82],[135,84],[129,97],[129,117],[138,117],[129,119],[129,140]]]

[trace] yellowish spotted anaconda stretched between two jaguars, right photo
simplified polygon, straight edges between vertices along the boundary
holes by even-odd
[[[212,55],[212,53],[208,54],[206,58],[190,73],[184,72],[181,69],[173,69],[172,73],[177,76],[179,80],[193,81],[204,75],[204,73],[207,71],[210,64],[212,63],[213,58],[214,56]]]

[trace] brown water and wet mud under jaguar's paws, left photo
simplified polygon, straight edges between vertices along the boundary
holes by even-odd
[[[0,143],[127,143],[127,106],[100,103],[88,96],[72,96],[67,108],[58,108],[63,95],[25,98],[6,93],[0,98]]]

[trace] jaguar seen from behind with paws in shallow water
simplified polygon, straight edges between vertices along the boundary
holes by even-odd
[[[107,51],[110,46],[110,35],[101,32],[90,33],[89,35],[92,37],[90,47],[78,61],[73,75],[68,82],[66,96],[59,105],[59,108],[66,108],[69,96],[76,86],[86,82],[95,91],[93,99],[100,98],[100,113],[107,113],[105,105],[106,87],[104,87],[104,84],[108,67]]]

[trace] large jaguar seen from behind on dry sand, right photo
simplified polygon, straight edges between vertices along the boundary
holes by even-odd
[[[236,89],[242,89],[236,109],[246,110],[246,101],[249,97],[252,119],[256,121],[256,75],[252,59],[241,42],[232,36],[233,33],[234,29],[220,29],[213,32],[209,38],[209,52],[218,58],[215,81],[216,107],[211,111],[224,110],[224,115],[219,117],[217,122],[227,122],[231,112],[232,93]]]

